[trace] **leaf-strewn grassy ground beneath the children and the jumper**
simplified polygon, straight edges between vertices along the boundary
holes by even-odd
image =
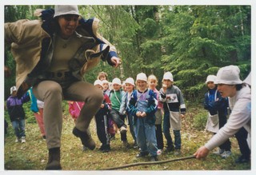
[[[162,153],[158,157],[159,161],[192,156],[198,147],[204,145],[210,139],[211,133],[193,128],[193,111],[195,110],[189,110],[186,114],[186,120],[182,121],[182,155],[174,156],[173,153]],[[94,141],[96,141],[97,148],[93,151],[82,151],[81,141],[72,134],[73,127],[73,119],[70,116],[64,115],[61,147],[61,164],[63,170],[100,170],[149,161],[149,157],[135,157],[138,149],[124,148],[122,141],[120,141],[120,134],[118,133],[116,134],[115,140],[110,143],[111,151],[109,153],[101,153],[98,150],[101,144],[96,135],[94,120],[91,122],[90,129]],[[132,144],[130,132],[127,133],[127,137],[130,144]],[[11,126],[9,126],[4,145],[4,167],[6,170],[42,170],[45,168],[48,150],[46,149],[46,141],[40,137],[36,123],[26,122],[26,143],[15,143],[14,141],[14,132]],[[237,165],[234,163],[240,152],[238,143],[234,137],[231,138],[231,142],[232,155],[227,159],[222,159],[211,152],[206,158],[206,161],[188,159],[161,165],[133,166],[121,170],[250,170],[250,164]]]

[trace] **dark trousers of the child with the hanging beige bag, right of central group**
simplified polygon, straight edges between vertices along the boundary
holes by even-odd
[[[181,149],[182,147],[182,139],[181,139],[181,131],[174,130],[174,143],[170,136],[170,113],[164,113],[163,117],[163,133],[167,140],[167,147],[172,147],[173,144],[175,145],[175,149]]]

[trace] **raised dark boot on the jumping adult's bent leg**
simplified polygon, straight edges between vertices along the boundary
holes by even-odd
[[[79,130],[76,127],[74,127],[73,134],[76,137],[80,137],[80,139],[82,141],[82,145],[86,146],[90,150],[94,150],[95,149],[96,143],[95,143],[94,139],[90,136],[90,133],[88,133],[86,131],[82,132],[81,130]]]

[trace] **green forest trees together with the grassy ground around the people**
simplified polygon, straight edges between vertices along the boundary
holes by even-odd
[[[5,6],[5,22],[34,17],[34,10],[54,8],[54,6]],[[161,87],[165,71],[174,74],[174,85],[178,86],[186,99],[186,121],[182,121],[182,156],[190,156],[198,146],[204,144],[211,134],[204,131],[206,110],[202,108],[206,93],[206,77],[217,74],[222,66],[237,65],[241,79],[251,70],[251,6],[78,6],[84,18],[99,18],[99,33],[118,50],[122,65],[114,69],[101,62],[86,75],[86,81],[93,83],[99,72],[104,71],[113,78],[124,81],[128,77],[144,72],[154,74]],[[15,62],[10,47],[5,46],[5,65],[12,74],[5,78],[5,100],[10,96],[10,87],[15,84]],[[14,145],[11,125],[5,140],[5,169],[43,169],[46,164],[45,142],[38,138],[38,126],[30,103],[26,109],[27,145]],[[111,152],[107,155],[92,151],[81,153],[80,142],[72,137],[70,129],[74,122],[63,103],[63,144],[62,164],[64,169],[102,169],[107,166],[138,162],[134,155],[138,150],[127,152],[122,149],[118,137],[111,142]],[[5,117],[9,121],[5,111]],[[10,122],[10,121],[9,121]],[[92,127],[92,129],[95,129]],[[97,141],[96,133],[93,137]],[[130,135],[128,139],[131,141]],[[99,144],[97,142],[97,144]],[[239,150],[232,138],[234,156],[222,160],[210,155],[208,161],[178,161],[170,165],[142,166],[133,170],[168,169],[250,169],[250,165],[235,165]],[[92,156],[94,155],[94,156]],[[115,157],[115,158],[113,158]],[[162,155],[160,160],[175,158]],[[108,164],[105,161],[109,160]],[[78,164],[79,162],[86,162]]]

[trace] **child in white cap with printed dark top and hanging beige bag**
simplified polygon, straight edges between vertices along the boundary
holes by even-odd
[[[173,84],[173,74],[166,72],[162,78],[162,88],[159,90],[159,100],[163,102],[164,109],[163,133],[167,140],[166,151],[174,151],[175,155],[179,155],[182,148],[182,117],[185,116],[186,105],[182,96],[182,91]],[[174,131],[174,144],[170,136],[170,129]]]

